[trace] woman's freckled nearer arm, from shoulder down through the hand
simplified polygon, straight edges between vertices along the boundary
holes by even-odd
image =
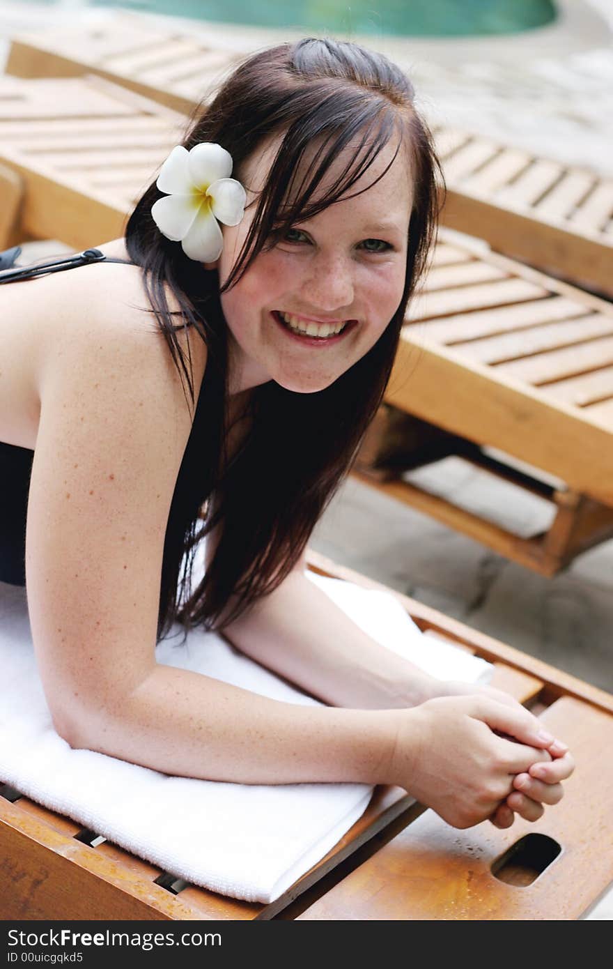
[[[49,328],[28,505],[28,607],[58,732],[74,746],[172,774],[384,781],[414,788],[452,824],[487,817],[492,798],[510,793],[511,774],[549,759],[534,749],[546,741],[525,710],[470,697],[444,709],[278,703],[156,663],[165,527],[191,420],[163,338],[148,317],[130,314],[134,294],[118,297],[118,274],[92,291],[97,268],[80,270],[69,301],[56,298],[53,277],[33,284],[47,297]],[[351,678],[350,660],[339,668]],[[366,667],[352,682],[370,675]],[[522,742],[496,736],[490,723]],[[451,797],[440,800],[441,792]]]

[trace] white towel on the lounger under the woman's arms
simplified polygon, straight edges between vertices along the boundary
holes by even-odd
[[[309,573],[383,645],[453,679],[491,667],[424,639],[390,595]],[[212,633],[157,646],[159,663],[194,670],[290,703],[317,703]],[[439,657],[437,661],[435,657]],[[34,658],[23,589],[0,583],[0,781],[176,877],[270,902],[336,844],[362,814],[365,784],[247,785],[172,777],[105,754],[73,750],[53,730]]]

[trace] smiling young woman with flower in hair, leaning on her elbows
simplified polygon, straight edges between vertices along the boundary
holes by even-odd
[[[73,746],[242,783],[394,783],[456,827],[562,797],[571,757],[536,717],[418,672],[303,574],[426,265],[436,171],[383,56],[274,47],[198,112],[125,238],[0,288],[0,578],[27,576]],[[156,665],[175,620],[330,705]]]

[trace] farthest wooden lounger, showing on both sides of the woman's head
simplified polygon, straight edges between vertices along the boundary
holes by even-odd
[[[190,113],[237,54],[119,16],[107,28],[24,35],[7,71],[23,78],[98,74]],[[526,150],[436,127],[448,195],[444,223],[499,252],[613,295],[613,179]]]

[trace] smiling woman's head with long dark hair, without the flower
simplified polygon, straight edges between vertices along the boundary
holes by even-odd
[[[207,346],[192,439],[208,435],[207,453],[221,455],[228,394],[250,427],[232,462],[215,459],[204,475],[188,445],[179,477],[185,500],[169,518],[165,560],[173,571],[163,575],[161,620],[176,614],[186,534],[189,545],[194,512],[212,493],[215,511],[200,530],[219,525],[221,538],[180,613],[207,624],[222,612],[225,622],[237,618],[291,573],[351,466],[434,231],[438,167],[413,98],[399,68],[361,47],[273,47],[229,78],[182,146],[191,155],[203,142],[221,143],[247,193],[245,218],[224,227],[219,260],[204,264],[214,271],[202,275],[176,243],[151,233],[164,171],[162,186],[158,180],[137,204],[127,247],[144,269],[170,349],[173,330],[156,301],[162,280]],[[382,229],[383,237],[373,235]],[[331,338],[308,333],[339,324]],[[306,335],[295,332],[305,327]]]

